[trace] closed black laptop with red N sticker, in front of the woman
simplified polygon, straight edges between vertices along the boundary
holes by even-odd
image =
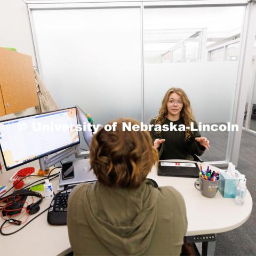
[[[199,171],[199,167],[196,163],[159,161],[157,175],[198,178]]]

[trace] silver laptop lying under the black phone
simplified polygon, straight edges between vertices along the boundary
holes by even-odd
[[[95,182],[97,177],[95,176],[93,170],[90,170],[90,159],[79,159],[73,162],[71,166],[73,168],[73,178],[62,179],[63,175],[60,173],[59,176],[59,187],[67,185],[76,185],[82,182]]]

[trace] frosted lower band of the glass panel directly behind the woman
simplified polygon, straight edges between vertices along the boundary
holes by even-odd
[[[171,87],[181,87],[187,93],[197,122],[230,121],[237,68],[237,61],[146,64],[146,123],[158,114]]]

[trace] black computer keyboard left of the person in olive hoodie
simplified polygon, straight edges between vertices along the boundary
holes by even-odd
[[[73,188],[69,188],[57,193],[52,199],[48,210],[47,221],[51,225],[66,225],[68,197]]]

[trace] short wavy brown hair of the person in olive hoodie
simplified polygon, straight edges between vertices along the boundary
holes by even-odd
[[[90,145],[90,163],[105,186],[137,188],[146,179],[158,161],[157,150],[152,146],[148,131],[122,131],[123,123],[140,123],[134,119],[120,118],[116,131],[101,129],[93,135]]]

